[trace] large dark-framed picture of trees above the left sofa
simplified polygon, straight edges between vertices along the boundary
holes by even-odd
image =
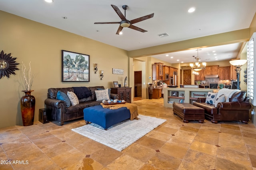
[[[90,55],[61,51],[62,82],[90,82]]]

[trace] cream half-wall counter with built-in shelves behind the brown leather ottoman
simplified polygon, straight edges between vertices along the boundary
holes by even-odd
[[[173,102],[193,104],[199,97],[206,97],[211,88],[163,88],[164,107],[172,107]]]

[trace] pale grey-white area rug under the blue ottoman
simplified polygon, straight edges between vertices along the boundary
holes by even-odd
[[[139,115],[138,120],[125,120],[104,130],[95,123],[84,125],[72,131],[102,143],[113,149],[122,151],[132,143],[161,125],[166,119]]]

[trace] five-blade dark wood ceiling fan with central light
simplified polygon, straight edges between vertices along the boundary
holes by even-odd
[[[145,29],[136,27],[136,26],[134,26],[132,24],[140,22],[140,21],[147,20],[149,18],[152,18],[154,16],[154,13],[129,21],[129,20],[126,19],[126,10],[128,8],[127,5],[123,5],[122,6],[122,8],[124,9],[124,15],[122,14],[122,12],[119,10],[119,8],[117,6],[115,6],[115,5],[111,5],[111,6],[116,11],[116,14],[121,18],[121,21],[120,22],[94,22],[94,24],[99,24],[99,23],[119,23],[120,25],[118,27],[118,30],[116,31],[116,34],[118,34],[118,35],[122,31],[123,27],[128,27],[128,28],[131,28],[131,29],[135,29],[135,30],[143,32],[143,33],[147,32]]]

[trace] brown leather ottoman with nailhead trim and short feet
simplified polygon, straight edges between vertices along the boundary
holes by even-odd
[[[204,109],[194,106],[189,103],[173,103],[173,113],[179,115],[184,123],[191,120],[197,120],[199,123],[204,123]]]

